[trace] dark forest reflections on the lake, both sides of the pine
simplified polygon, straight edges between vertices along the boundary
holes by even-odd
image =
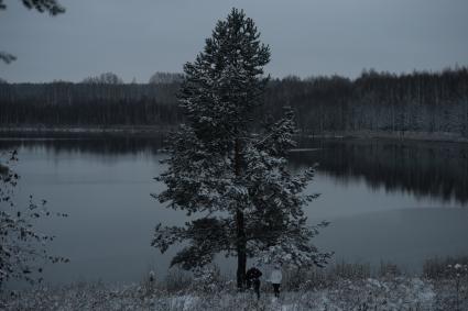
[[[1,149],[45,148],[51,153],[90,153],[96,155],[155,154],[164,146],[164,136],[90,135],[50,140],[0,140]],[[292,152],[291,167],[302,169],[318,163],[318,171],[352,182],[363,179],[369,187],[404,191],[444,201],[468,201],[468,145],[445,142],[398,140],[312,140],[301,138]],[[20,155],[21,156],[21,155]]]

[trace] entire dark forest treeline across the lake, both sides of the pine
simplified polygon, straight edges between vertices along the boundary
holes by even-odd
[[[85,79],[80,84],[0,82],[0,122],[4,126],[176,125],[184,121],[168,74],[149,84],[121,79]],[[110,79],[112,78],[112,79]],[[290,105],[298,127],[308,133],[352,131],[447,132],[468,137],[468,68],[393,75],[363,71],[339,76],[272,79],[265,115]]]

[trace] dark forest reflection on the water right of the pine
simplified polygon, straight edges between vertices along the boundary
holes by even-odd
[[[348,182],[359,178],[372,189],[405,191],[460,203],[468,201],[468,145],[398,140],[302,140],[311,152],[291,163],[318,163],[318,170]]]

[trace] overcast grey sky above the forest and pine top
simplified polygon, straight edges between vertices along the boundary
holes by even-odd
[[[11,82],[79,81],[112,71],[148,81],[182,71],[232,7],[252,18],[272,52],[274,77],[363,68],[392,73],[468,65],[467,0],[62,0],[56,18],[6,0],[0,11],[0,63]]]

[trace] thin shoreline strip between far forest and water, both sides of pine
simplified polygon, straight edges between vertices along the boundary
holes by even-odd
[[[116,125],[116,126],[0,126],[2,137],[50,137],[76,135],[153,135],[176,130],[176,125]],[[300,131],[298,135],[311,138],[389,138],[404,141],[468,143],[468,137],[450,132],[414,132],[414,131]]]

